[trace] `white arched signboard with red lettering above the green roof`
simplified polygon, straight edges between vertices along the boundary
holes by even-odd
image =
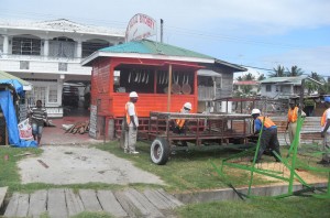
[[[142,40],[157,33],[157,23],[148,15],[138,13],[129,22],[125,33],[127,42]]]

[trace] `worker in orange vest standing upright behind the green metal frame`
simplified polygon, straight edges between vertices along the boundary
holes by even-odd
[[[289,109],[287,112],[287,124],[286,124],[286,130],[288,131],[288,134],[289,134],[290,144],[293,143],[295,135],[296,135],[298,112],[299,112],[299,108],[296,106],[296,102],[294,100],[290,100]],[[304,111],[301,111],[301,117],[306,117],[306,113]],[[301,148],[300,146],[300,132],[299,132],[297,143],[298,143],[298,148]]]

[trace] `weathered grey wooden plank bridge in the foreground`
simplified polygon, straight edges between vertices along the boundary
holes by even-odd
[[[1,189],[0,189],[1,190]],[[94,190],[52,188],[31,194],[14,193],[4,217],[72,217],[82,211],[105,211],[114,217],[174,217],[184,204],[163,189]]]

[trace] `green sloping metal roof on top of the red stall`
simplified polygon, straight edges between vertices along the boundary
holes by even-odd
[[[197,57],[216,59],[215,57],[177,47],[174,45],[154,42],[151,40],[132,41],[124,44],[119,44],[110,47],[99,50],[107,53],[139,53],[151,55],[168,55],[168,56],[183,56],[183,57]]]

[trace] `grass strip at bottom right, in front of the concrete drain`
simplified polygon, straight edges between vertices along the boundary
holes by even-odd
[[[178,208],[178,217],[330,217],[330,199],[288,197],[283,199],[256,198],[245,201],[213,201]]]

